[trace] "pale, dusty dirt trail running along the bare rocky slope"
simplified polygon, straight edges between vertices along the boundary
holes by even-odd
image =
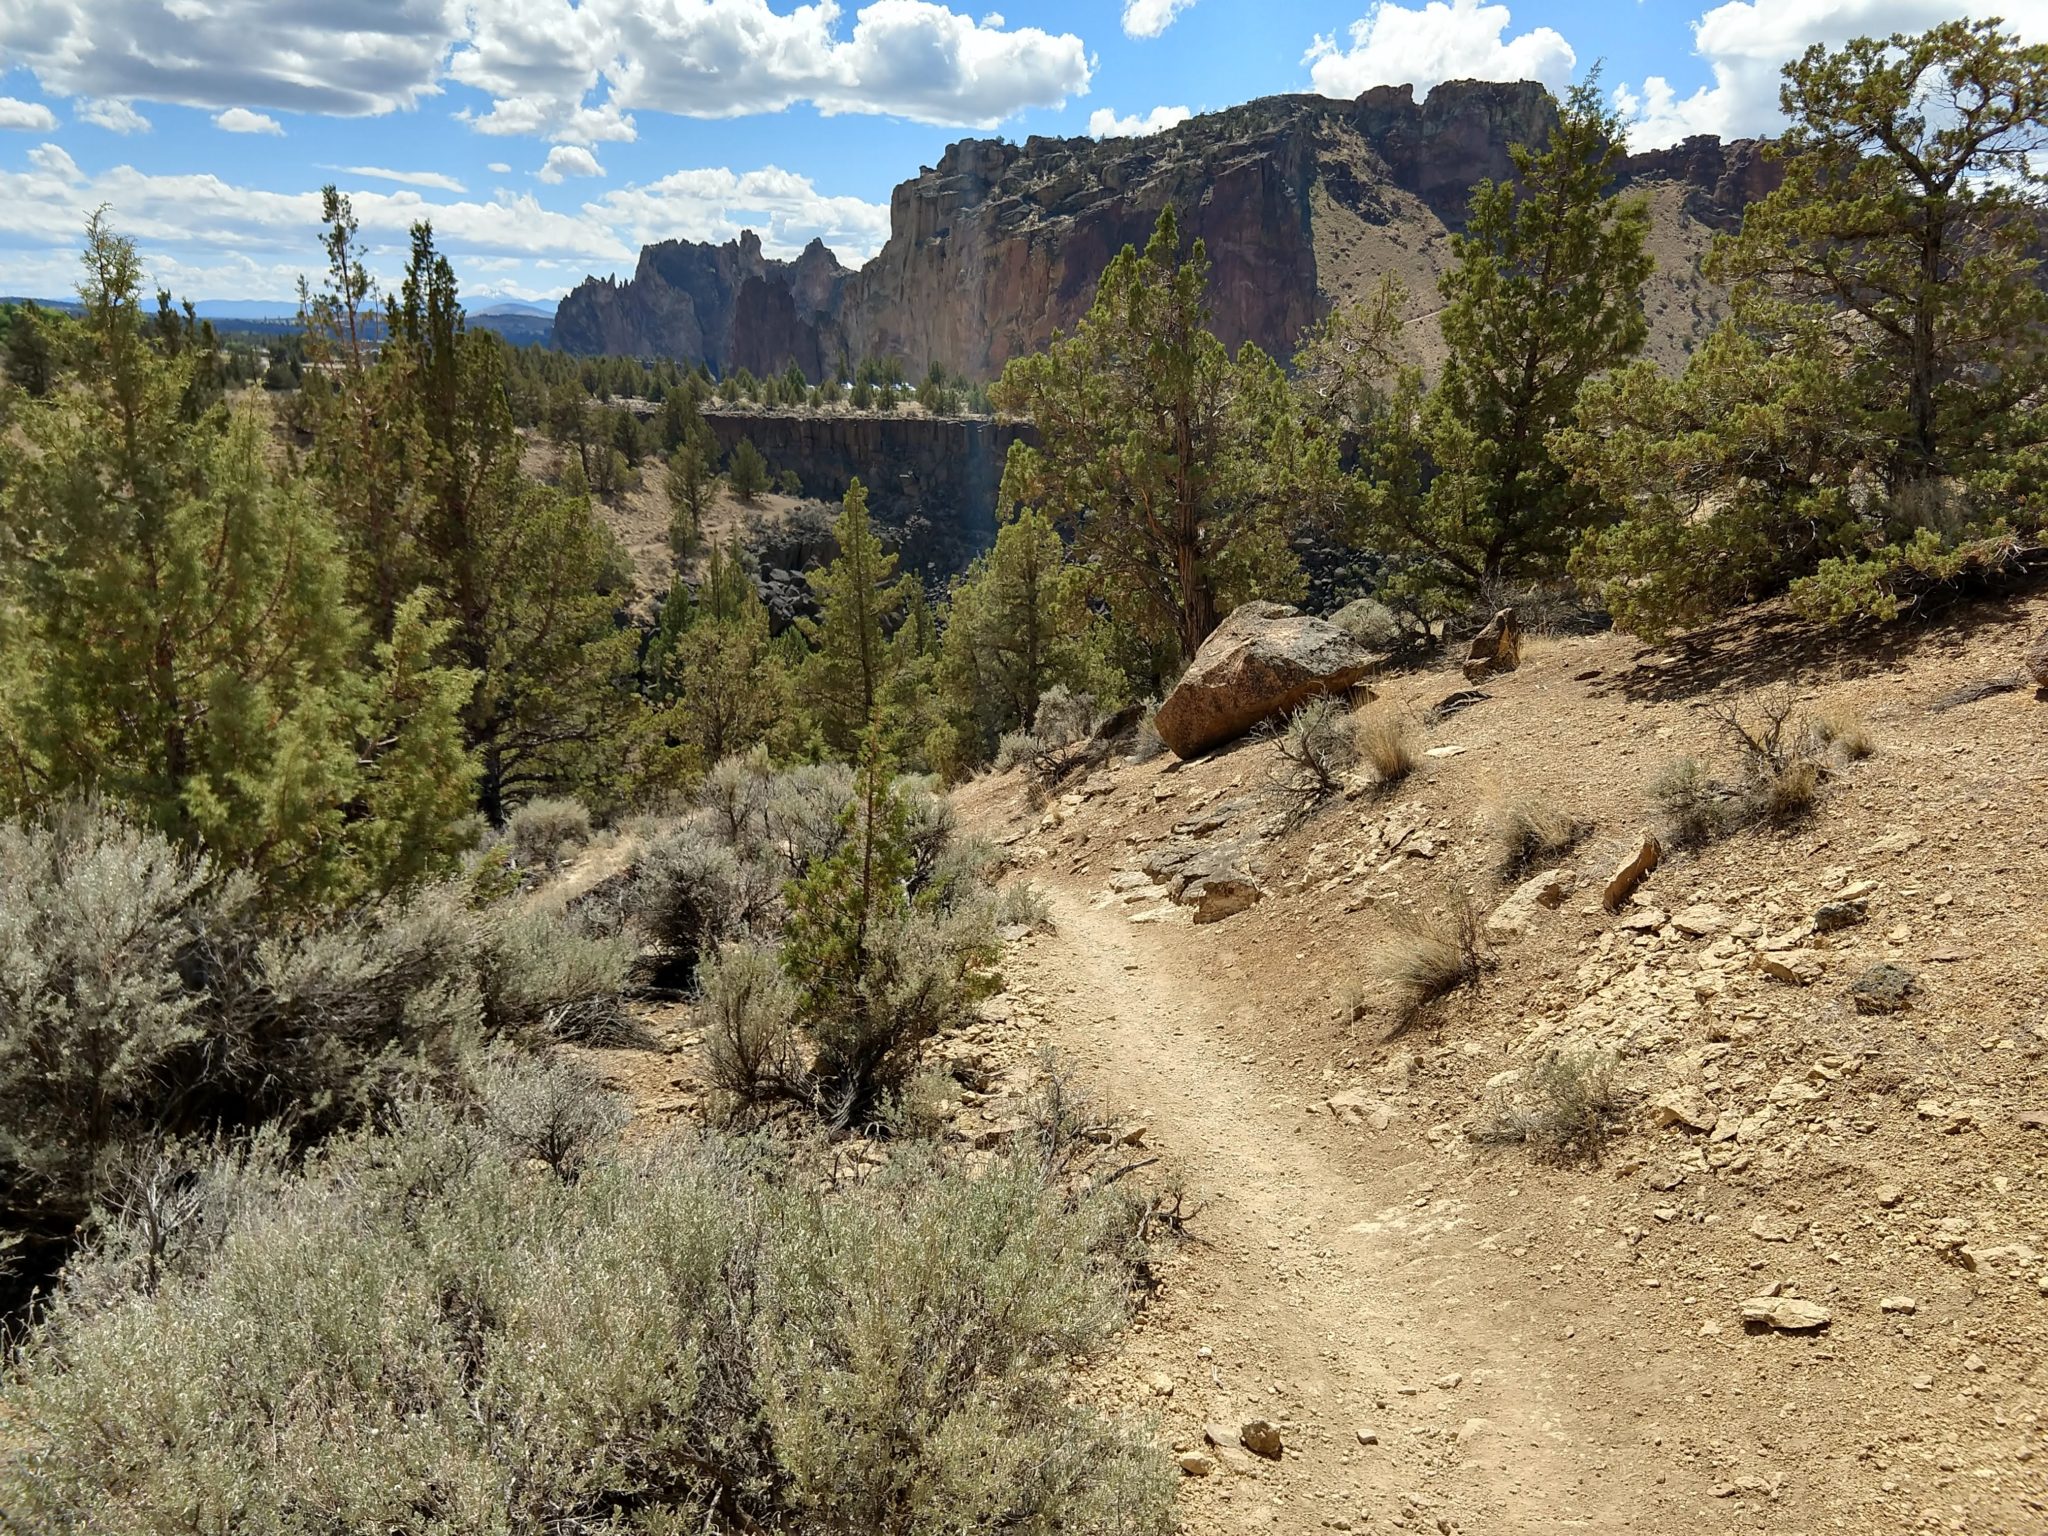
[[[1178,1444],[1198,1448],[1206,1421],[1286,1432],[1280,1464],[1239,1452],[1239,1470],[1184,1485],[1190,1532],[1694,1524],[1653,1491],[1636,1415],[1579,1378],[1573,1321],[1536,1286],[1495,1288],[1487,1272],[1505,1266],[1485,1262],[1462,1200],[1432,1194],[1436,1159],[1374,1165],[1360,1151],[1374,1139],[1305,1112],[1315,1083],[1255,1065],[1257,999],[1204,965],[1204,930],[1049,895],[1057,932],[1010,956],[1012,993],[1206,1202],[1202,1245],[1184,1249],[1130,1354],[1171,1378],[1161,1413]]]

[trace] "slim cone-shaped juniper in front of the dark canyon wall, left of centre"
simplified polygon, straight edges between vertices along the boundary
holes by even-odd
[[[858,479],[846,487],[831,535],[838,557],[809,573],[819,616],[799,621],[811,645],[799,684],[825,743],[850,758],[893,698],[903,651],[889,635],[915,582],[897,578],[897,557],[874,535]]]

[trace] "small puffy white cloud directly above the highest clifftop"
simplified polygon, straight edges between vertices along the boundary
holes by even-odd
[[[1427,92],[1444,80],[1540,80],[1565,90],[1579,59],[1556,31],[1507,37],[1507,6],[1427,0],[1419,10],[1380,0],[1350,27],[1350,47],[1317,37],[1303,57],[1325,96],[1358,96],[1372,86],[1411,84]]]

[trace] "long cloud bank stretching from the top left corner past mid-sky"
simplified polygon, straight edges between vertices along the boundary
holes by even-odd
[[[6,66],[88,100],[334,117],[412,109],[453,78],[489,98],[475,127],[584,145],[635,137],[633,111],[795,102],[987,127],[1090,80],[1079,37],[938,0],[10,0]]]

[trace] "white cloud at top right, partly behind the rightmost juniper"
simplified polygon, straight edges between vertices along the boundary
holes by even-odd
[[[2042,0],[1993,10],[2005,10],[2007,27],[2030,43],[2048,41]],[[1616,88],[1614,104],[1636,150],[1661,150],[1694,133],[1776,133],[1784,127],[1778,111],[1782,70],[1812,43],[1919,33],[1956,14],[1946,0],[1733,0],[1692,27],[1694,53],[1706,61],[1714,84],[1679,96],[1667,78],[1651,76],[1640,86]]]

